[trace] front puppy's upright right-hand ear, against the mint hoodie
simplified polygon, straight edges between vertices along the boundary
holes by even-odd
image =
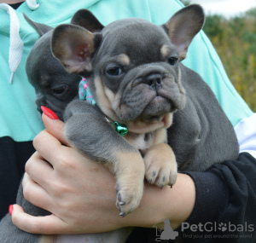
[[[200,5],[191,4],[179,10],[163,25],[171,42],[177,46],[180,59],[188,52],[189,44],[195,35],[201,31],[205,23],[205,14]]]

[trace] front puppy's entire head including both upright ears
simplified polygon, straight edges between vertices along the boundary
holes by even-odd
[[[88,79],[102,112],[133,132],[170,126],[185,106],[179,61],[204,24],[201,7],[190,5],[163,26],[131,18],[104,27],[85,9],[73,24],[55,28],[52,51],[68,72]]]

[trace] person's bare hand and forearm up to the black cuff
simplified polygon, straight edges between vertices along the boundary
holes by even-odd
[[[32,217],[14,205],[12,219],[17,227],[33,234],[85,234],[127,226],[151,228],[169,218],[176,229],[189,217],[195,204],[195,185],[182,174],[172,189],[146,182],[137,210],[120,217],[113,174],[67,146],[60,120],[44,115],[43,119],[46,130],[34,141],[37,152],[27,161],[23,188],[26,200],[53,214]]]

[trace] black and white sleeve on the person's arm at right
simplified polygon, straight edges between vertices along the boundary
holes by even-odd
[[[255,122],[256,113],[242,119],[235,127],[240,146],[238,159],[213,165],[207,172],[188,172],[195,182],[196,200],[194,210],[184,225],[201,223],[203,226],[208,225],[207,229],[209,229],[212,223],[212,225],[222,225],[228,228],[221,230],[222,228],[219,227],[210,232],[206,229],[200,232],[199,230],[192,231],[192,228],[181,227],[183,234],[197,234],[197,236],[217,234],[219,236],[215,238],[217,242],[222,237],[225,242],[231,243],[240,242],[241,235],[249,237],[247,238],[249,242],[254,242],[253,240],[256,239],[254,230],[256,225],[254,208],[256,205]],[[224,234],[235,236],[229,241]]]

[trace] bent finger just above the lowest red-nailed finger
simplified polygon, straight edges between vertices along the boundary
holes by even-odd
[[[25,199],[30,201],[32,205],[51,211],[52,206],[49,193],[37,182],[34,182],[26,173],[22,180],[22,188]]]

